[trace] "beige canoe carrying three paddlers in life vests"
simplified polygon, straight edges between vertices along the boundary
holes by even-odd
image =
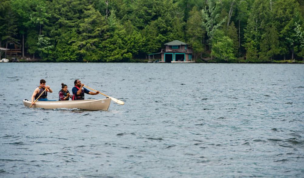
[[[32,108],[57,109],[57,108],[78,108],[86,110],[108,110],[111,98],[105,99],[85,99],[85,100],[69,100],[69,101],[36,101]],[[31,106],[32,102],[27,99],[23,100],[26,107]]]

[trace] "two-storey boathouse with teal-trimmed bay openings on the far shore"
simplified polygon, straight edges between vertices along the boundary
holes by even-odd
[[[194,62],[192,61],[192,49],[188,49],[187,43],[174,40],[164,45],[165,49],[161,49],[161,52],[148,54],[149,62],[153,62],[154,55],[159,54],[161,54],[159,62]]]

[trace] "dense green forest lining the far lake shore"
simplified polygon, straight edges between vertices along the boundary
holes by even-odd
[[[40,61],[133,62],[180,40],[198,62],[302,61],[303,19],[304,0],[0,0],[0,47]]]

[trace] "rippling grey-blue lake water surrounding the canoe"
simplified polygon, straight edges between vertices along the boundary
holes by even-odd
[[[1,63],[0,73],[0,177],[304,177],[304,65]],[[24,107],[40,79],[49,99],[80,79],[125,105]]]

